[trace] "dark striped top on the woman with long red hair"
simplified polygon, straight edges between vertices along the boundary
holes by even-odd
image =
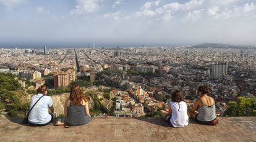
[[[85,115],[85,106],[69,106],[67,108],[67,124],[68,125],[83,125],[90,122],[91,118]]]

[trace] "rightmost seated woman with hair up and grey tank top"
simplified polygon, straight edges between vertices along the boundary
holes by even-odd
[[[188,111],[190,117],[201,124],[210,124],[216,119],[215,101],[208,96],[208,93],[210,93],[209,85],[201,85],[198,87],[198,95],[200,98],[195,100],[193,108]]]

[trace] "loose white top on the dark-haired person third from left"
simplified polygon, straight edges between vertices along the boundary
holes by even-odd
[[[181,101],[170,102],[171,105],[171,124],[173,127],[185,127],[189,125],[189,116],[187,116],[187,103]]]

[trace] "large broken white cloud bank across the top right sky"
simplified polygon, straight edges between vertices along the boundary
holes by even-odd
[[[246,3],[239,0],[190,0],[184,3],[169,2],[159,6],[160,1],[148,1],[143,4],[139,11],[135,12],[137,17],[155,17],[156,20],[195,21],[198,18],[227,19],[237,16],[256,15],[254,3]],[[153,9],[155,7],[155,9]]]

